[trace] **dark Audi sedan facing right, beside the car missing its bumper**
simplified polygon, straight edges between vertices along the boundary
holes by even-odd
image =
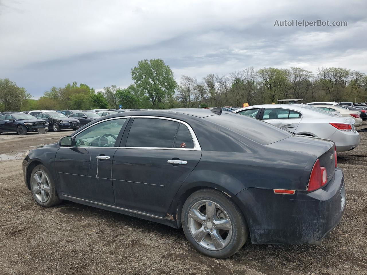
[[[63,129],[77,130],[80,128],[79,120],[75,118],[69,118],[66,115],[57,113],[55,111],[44,112],[37,114],[36,118],[41,118],[48,122],[48,129],[54,132],[60,132]]]

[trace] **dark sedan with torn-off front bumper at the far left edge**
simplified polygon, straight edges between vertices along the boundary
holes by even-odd
[[[48,122],[37,119],[22,112],[0,113],[0,133],[17,132],[26,135],[27,132],[46,133]]]

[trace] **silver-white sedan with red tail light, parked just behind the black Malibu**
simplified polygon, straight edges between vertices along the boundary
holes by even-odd
[[[263,104],[233,113],[264,120],[295,134],[333,140],[338,152],[352,150],[360,141],[353,118],[340,117],[306,104]]]

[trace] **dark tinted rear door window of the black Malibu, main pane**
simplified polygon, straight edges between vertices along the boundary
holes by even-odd
[[[178,122],[158,118],[135,118],[127,137],[127,147],[172,148]]]

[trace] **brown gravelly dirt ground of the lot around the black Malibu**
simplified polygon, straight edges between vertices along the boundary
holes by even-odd
[[[367,132],[338,154],[346,210],[321,246],[248,241],[225,260],[197,253],[181,229],[66,201],[38,206],[24,153],[68,134],[0,135],[0,274],[367,274]]]

